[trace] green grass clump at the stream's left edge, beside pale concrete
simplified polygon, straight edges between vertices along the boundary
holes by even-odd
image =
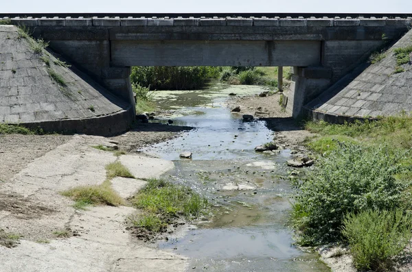
[[[209,208],[207,199],[191,188],[155,179],[148,180],[131,202],[144,211],[133,221],[135,226],[153,232],[165,230],[168,223],[179,217],[194,219]]]

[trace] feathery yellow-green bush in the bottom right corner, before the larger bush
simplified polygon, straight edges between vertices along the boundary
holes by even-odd
[[[350,213],[343,225],[355,267],[362,270],[392,271],[393,257],[402,253],[412,237],[412,217],[399,209]]]

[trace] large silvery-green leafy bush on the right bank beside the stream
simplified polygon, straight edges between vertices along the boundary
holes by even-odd
[[[302,230],[302,244],[339,240],[348,212],[393,209],[403,203],[408,184],[394,175],[405,169],[401,163],[407,158],[405,153],[393,152],[385,145],[338,145],[298,184],[301,190],[293,205],[293,217]]]

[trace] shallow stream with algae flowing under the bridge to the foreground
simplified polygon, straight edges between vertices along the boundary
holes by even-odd
[[[290,150],[257,153],[273,132],[264,121],[242,121],[225,107],[229,93],[254,95],[259,86],[221,86],[196,91],[160,91],[155,100],[171,115],[152,122],[196,127],[144,151],[175,168],[164,177],[211,199],[218,212],[157,243],[190,258],[188,271],[330,271],[319,255],[293,245],[287,176]],[[192,159],[180,159],[190,151]]]

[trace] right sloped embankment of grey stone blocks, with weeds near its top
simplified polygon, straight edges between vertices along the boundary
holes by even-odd
[[[393,47],[371,58],[372,64],[358,67],[308,103],[313,119],[343,123],[350,118],[376,118],[412,111],[410,54],[412,31]]]

